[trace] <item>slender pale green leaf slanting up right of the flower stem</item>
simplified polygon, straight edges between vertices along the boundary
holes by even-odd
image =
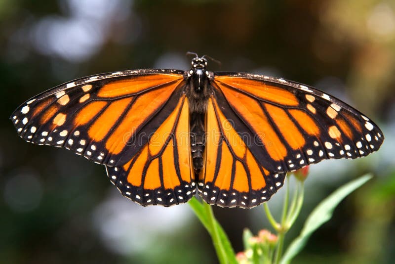
[[[284,253],[280,263],[289,263],[297,254],[299,254],[305,247],[307,240],[311,234],[318,229],[322,224],[332,218],[333,210],[336,206],[350,193],[360,187],[363,183],[371,179],[371,175],[364,175],[349,183],[341,186],[331,195],[325,198],[318,206],[313,210],[310,216],[307,218],[305,225],[300,232],[300,235],[295,238],[289,245],[287,251]]]

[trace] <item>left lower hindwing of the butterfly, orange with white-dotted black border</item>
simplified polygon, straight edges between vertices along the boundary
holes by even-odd
[[[189,106],[183,95],[148,143],[123,166],[107,167],[119,191],[147,205],[185,203],[196,192],[189,144]]]

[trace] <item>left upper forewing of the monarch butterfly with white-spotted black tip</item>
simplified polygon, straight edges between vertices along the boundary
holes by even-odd
[[[146,145],[182,96],[182,71],[102,74],[50,89],[11,116],[19,135],[121,166]]]

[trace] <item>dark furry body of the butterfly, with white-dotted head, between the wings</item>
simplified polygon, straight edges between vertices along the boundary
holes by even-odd
[[[190,108],[190,138],[194,170],[198,174],[203,168],[205,147],[205,116],[210,96],[212,73],[206,70],[207,60],[196,57],[192,60],[192,69],[188,72],[187,98]]]

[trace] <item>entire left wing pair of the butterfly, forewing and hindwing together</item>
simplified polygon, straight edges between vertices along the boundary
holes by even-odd
[[[106,166],[123,195],[170,206],[195,193],[184,72],[137,70],[48,90],[12,115],[27,141],[66,147]]]

